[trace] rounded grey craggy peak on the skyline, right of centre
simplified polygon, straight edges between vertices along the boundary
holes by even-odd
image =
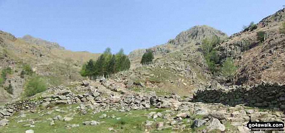
[[[191,43],[193,41],[201,43],[203,39],[212,39],[213,36],[218,36],[221,40],[224,40],[227,37],[226,33],[216,30],[213,27],[207,25],[197,25],[179,33],[173,42],[174,44]]]

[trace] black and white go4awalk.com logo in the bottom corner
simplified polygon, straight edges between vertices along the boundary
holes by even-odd
[[[284,122],[249,122],[246,125],[251,131],[284,131]]]

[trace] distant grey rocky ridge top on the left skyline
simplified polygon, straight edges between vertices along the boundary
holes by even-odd
[[[41,38],[35,38],[33,36],[30,36],[30,35],[25,35],[22,37],[22,39],[28,43],[35,43],[37,45],[46,46],[49,49],[64,49],[64,47],[59,46],[58,43],[49,42],[49,41],[43,40]]]

